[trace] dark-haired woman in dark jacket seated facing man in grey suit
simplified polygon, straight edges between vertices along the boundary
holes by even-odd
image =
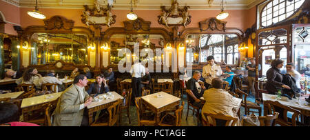
[[[90,85],[88,88],[87,93],[90,95],[94,95],[96,97],[98,94],[103,94],[109,92],[109,88],[105,81],[105,77],[103,74],[96,75],[96,82]]]

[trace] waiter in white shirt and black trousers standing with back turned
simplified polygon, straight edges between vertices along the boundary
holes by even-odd
[[[145,75],[145,67],[141,64],[141,60],[135,61],[130,68],[130,74],[132,74],[132,94],[134,98],[141,97],[141,77]]]

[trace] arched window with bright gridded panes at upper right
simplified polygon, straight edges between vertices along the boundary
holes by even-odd
[[[270,26],[289,18],[295,13],[305,0],[273,0],[262,8],[260,23],[261,26]]]

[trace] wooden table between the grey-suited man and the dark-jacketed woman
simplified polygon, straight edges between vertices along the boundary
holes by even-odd
[[[115,101],[117,101],[118,99],[121,99],[121,100],[124,99],[120,94],[117,94],[114,91],[112,92],[112,94],[114,95],[113,99],[102,99],[101,101],[93,101],[92,103],[90,103],[90,105],[87,106],[89,124],[92,124],[92,122],[93,122],[92,116],[93,116],[94,112],[97,112],[99,110],[103,110],[105,108],[109,108],[109,106],[112,106],[112,104]],[[103,94],[99,94],[97,97],[99,97],[101,95],[103,95]],[[121,104],[122,103],[123,103],[123,101],[121,101]],[[119,112],[121,113],[121,110]],[[121,115],[120,115],[120,119],[121,119]]]

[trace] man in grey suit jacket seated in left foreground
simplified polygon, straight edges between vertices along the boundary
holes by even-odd
[[[53,126],[88,126],[84,108],[92,103],[92,97],[85,91],[87,82],[85,75],[79,74],[74,78],[74,84],[63,91],[52,114]]]

